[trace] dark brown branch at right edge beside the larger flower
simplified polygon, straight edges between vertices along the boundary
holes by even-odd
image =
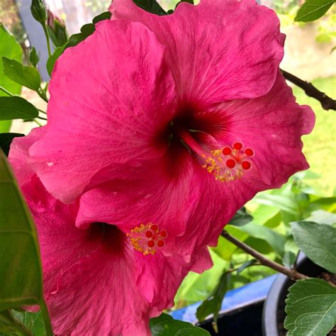
[[[303,81],[302,79],[294,76],[293,74],[290,74],[289,72],[286,72],[285,70],[281,69],[281,72],[289,82],[292,82],[293,84],[296,84],[296,86],[301,87],[307,96],[313,97],[320,101],[322,107],[325,110],[336,110],[335,99],[330,98],[330,96],[327,96],[324,92],[315,88],[313,84]]]

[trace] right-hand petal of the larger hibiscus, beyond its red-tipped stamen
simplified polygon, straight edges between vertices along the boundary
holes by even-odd
[[[309,167],[301,136],[311,132],[315,115],[309,106],[300,106],[295,100],[279,72],[268,94],[216,108],[228,120],[228,128],[218,140],[223,145],[240,141],[251,147],[255,153],[252,164],[269,189],[279,188],[291,175]]]

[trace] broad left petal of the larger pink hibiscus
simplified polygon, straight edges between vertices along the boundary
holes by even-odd
[[[164,47],[142,24],[97,24],[57,60],[49,91],[47,133],[29,154],[47,190],[65,203],[99,169],[166,150],[154,139],[169,123],[174,82]]]

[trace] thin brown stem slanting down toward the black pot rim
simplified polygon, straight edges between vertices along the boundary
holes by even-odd
[[[221,235],[229,242],[232,242],[234,245],[236,245],[243,251],[247,252],[248,254],[252,255],[252,257],[254,257],[255,259],[259,260],[259,262],[263,264],[264,266],[270,267],[271,269],[274,269],[275,271],[279,271],[280,273],[285,274],[286,276],[289,276],[289,278],[292,280],[300,280],[300,279],[308,278],[308,276],[299,273],[295,269],[289,269],[287,267],[284,267],[281,264],[278,264],[277,262],[274,262],[271,259],[268,259],[267,257],[264,257],[264,255],[252,249],[252,247],[246,245],[244,242],[237,240],[235,237],[230,235],[230,233],[228,233],[225,230],[223,231]]]

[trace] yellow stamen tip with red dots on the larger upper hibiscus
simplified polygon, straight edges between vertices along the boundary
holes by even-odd
[[[245,148],[242,142],[234,142],[232,146],[225,146],[221,150],[211,150],[208,157],[204,155],[203,168],[219,181],[233,181],[251,169],[250,159],[253,156],[252,148]]]

